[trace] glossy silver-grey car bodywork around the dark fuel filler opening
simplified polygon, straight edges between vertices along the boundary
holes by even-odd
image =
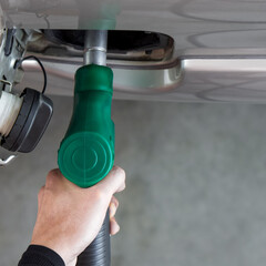
[[[266,102],[265,1],[248,0],[1,0],[2,24],[27,29],[91,29],[111,20],[115,31],[166,34],[171,57],[161,61],[109,58],[116,99]],[[160,51],[158,51],[160,52]],[[82,57],[39,54],[49,92],[72,95]],[[43,57],[42,57],[43,55]],[[59,60],[60,59],[60,60]],[[41,74],[24,64],[21,85],[37,88]]]

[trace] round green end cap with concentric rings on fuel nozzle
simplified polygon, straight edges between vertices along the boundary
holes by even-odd
[[[113,160],[106,140],[92,132],[66,137],[58,156],[62,174],[81,187],[92,186],[104,178],[113,166]]]

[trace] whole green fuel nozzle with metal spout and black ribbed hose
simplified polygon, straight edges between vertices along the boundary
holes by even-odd
[[[80,187],[103,180],[114,163],[111,120],[113,72],[106,66],[108,31],[88,31],[84,65],[75,73],[72,119],[58,152],[62,174]],[[110,217],[96,238],[78,257],[78,266],[110,266]]]

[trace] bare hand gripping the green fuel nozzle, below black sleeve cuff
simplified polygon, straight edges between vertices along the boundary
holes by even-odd
[[[96,185],[81,188],[68,181],[60,170],[52,170],[38,195],[38,215],[31,245],[57,252],[65,265],[75,265],[76,257],[96,237],[110,206],[111,235],[119,232],[114,218],[119,201],[114,193],[125,188],[125,173],[114,166]]]

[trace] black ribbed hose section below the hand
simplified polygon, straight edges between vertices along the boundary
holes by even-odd
[[[89,247],[78,257],[76,266],[110,266],[110,217],[109,211],[103,225]]]

